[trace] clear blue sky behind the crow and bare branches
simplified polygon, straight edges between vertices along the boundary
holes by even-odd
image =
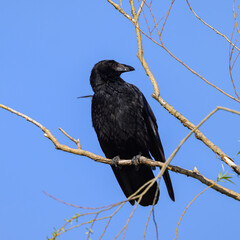
[[[128,9],[128,1],[123,1]],[[170,1],[153,1],[157,19]],[[236,3],[237,4],[237,3]],[[231,1],[193,3],[196,12],[220,32],[231,36],[234,24]],[[144,23],[142,21],[142,23]],[[107,1],[1,1],[0,2],[0,103],[39,121],[57,139],[75,147],[58,127],[79,138],[83,149],[103,156],[91,124],[89,75],[102,59],[115,59],[136,71],[122,77],[137,85],[156,115],[168,157],[188,130],[151,98],[152,85],[139,63],[134,27]],[[185,1],[176,1],[163,34],[166,46],[212,83],[234,94],[228,72],[228,43],[206,28],[189,11]],[[162,97],[194,124],[216,106],[239,110],[228,99],[187,71],[161,48],[144,38],[144,54],[160,87]],[[239,63],[234,76],[239,89]],[[2,240],[51,236],[64,219],[79,210],[44,195],[43,191],[80,206],[102,206],[125,199],[109,166],[86,157],[55,150],[40,129],[0,109],[0,226]],[[203,133],[230,157],[240,150],[239,116],[219,112],[201,127]],[[239,164],[239,158],[235,159]],[[198,170],[215,180],[221,170],[216,155],[193,136],[172,164]],[[225,169],[232,171],[225,166]],[[157,171],[156,171],[157,172]],[[160,239],[174,239],[177,222],[187,204],[205,186],[184,175],[171,173],[176,202],[161,184],[156,206]],[[223,183],[239,191],[235,185]],[[132,206],[127,204],[110,225],[105,239],[112,239],[125,224]],[[141,239],[149,208],[137,210],[126,239]],[[184,216],[178,239],[237,239],[239,202],[208,190]],[[89,226],[87,226],[89,227]],[[92,239],[104,227],[96,223]],[[82,227],[60,239],[86,239]],[[147,239],[154,239],[151,221]]]

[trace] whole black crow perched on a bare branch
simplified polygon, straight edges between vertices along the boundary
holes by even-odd
[[[157,121],[151,107],[135,85],[120,77],[122,73],[133,70],[133,67],[115,60],[102,60],[94,65],[90,75],[94,92],[91,103],[93,128],[102,151],[114,163],[111,164],[112,170],[127,198],[153,179],[154,174],[147,165],[117,165],[119,159],[136,160],[144,156],[165,162]],[[175,201],[167,170],[163,178],[170,198]],[[134,205],[135,201],[140,200],[141,206],[155,205],[159,194],[155,181],[141,199],[130,199],[129,202]]]

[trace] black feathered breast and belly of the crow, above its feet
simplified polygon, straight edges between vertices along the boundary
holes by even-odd
[[[142,111],[139,99],[131,93],[104,92],[93,96],[93,127],[107,157],[129,158],[146,152],[147,127]]]

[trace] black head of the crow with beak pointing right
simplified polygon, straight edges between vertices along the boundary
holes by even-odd
[[[114,60],[103,60],[96,63],[92,69],[90,83],[95,91],[100,86],[109,81],[120,79],[120,75],[124,72],[134,71],[135,69],[126,64],[118,63]]]

